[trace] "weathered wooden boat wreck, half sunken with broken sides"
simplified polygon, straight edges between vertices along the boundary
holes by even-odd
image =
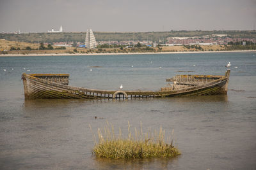
[[[97,90],[68,85],[69,74],[22,74],[25,99],[115,99],[143,97],[205,96],[227,94],[230,70],[225,76],[176,75],[157,91]]]

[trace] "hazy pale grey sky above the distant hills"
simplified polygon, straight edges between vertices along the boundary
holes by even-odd
[[[256,0],[0,0],[0,31],[256,29]]]

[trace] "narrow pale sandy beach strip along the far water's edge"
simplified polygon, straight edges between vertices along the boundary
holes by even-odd
[[[229,52],[256,52],[256,50],[234,51],[206,51],[206,52],[143,52],[143,53],[28,53],[28,54],[0,54],[0,57],[27,57],[27,56],[72,56],[72,55],[134,55],[134,54],[165,54],[165,53],[229,53]]]

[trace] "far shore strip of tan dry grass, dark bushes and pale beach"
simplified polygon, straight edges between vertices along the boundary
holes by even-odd
[[[47,55],[127,55],[153,53],[203,53],[203,52],[256,52],[256,45],[179,45],[179,46],[98,46],[94,49],[72,46],[54,46],[44,43],[25,43],[0,39],[0,57]],[[8,50],[3,50],[8,49]]]

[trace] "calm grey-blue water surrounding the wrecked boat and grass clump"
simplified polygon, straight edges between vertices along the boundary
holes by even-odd
[[[0,57],[0,169],[255,169],[255,55]],[[165,78],[175,74],[223,75],[227,62],[232,64],[227,96],[25,100],[20,80],[24,72],[69,73],[70,85],[78,87],[118,90],[122,83],[124,90],[159,90],[166,85]],[[96,159],[93,132],[106,120],[124,135],[127,121],[132,128],[142,122],[143,131],[174,129],[175,146],[182,155]]]

